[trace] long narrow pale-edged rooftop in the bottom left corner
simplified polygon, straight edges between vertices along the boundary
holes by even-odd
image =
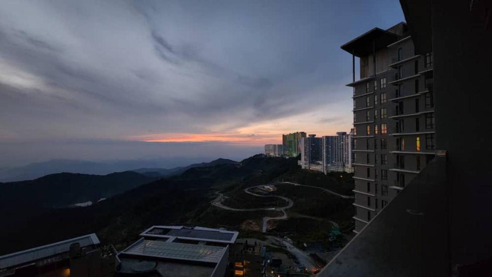
[[[0,269],[10,268],[26,263],[31,263],[55,255],[68,252],[69,246],[79,243],[80,247],[95,246],[99,239],[95,234],[89,234],[49,245],[39,246],[7,255],[0,256]]]

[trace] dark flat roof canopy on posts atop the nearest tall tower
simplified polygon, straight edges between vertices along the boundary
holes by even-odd
[[[343,44],[340,48],[350,54],[354,54],[356,57],[366,57],[370,55],[373,50],[378,51],[386,48],[389,44],[392,44],[399,38],[400,37],[395,33],[374,28]],[[373,41],[374,49],[372,49]]]

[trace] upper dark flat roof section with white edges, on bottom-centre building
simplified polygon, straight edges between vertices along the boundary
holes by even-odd
[[[146,238],[179,238],[184,240],[233,244],[238,232],[205,227],[152,226],[140,235]]]

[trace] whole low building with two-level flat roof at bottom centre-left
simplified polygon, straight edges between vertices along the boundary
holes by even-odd
[[[238,232],[204,227],[152,226],[118,254],[117,275],[222,277]]]

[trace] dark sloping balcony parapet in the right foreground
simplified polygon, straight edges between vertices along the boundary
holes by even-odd
[[[318,276],[450,276],[445,191],[438,156]]]

